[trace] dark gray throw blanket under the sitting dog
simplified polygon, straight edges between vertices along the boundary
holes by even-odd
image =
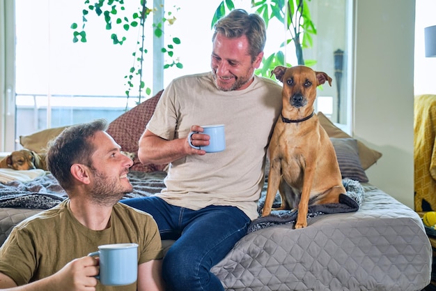
[[[347,191],[346,194],[339,196],[339,203],[334,204],[321,204],[321,205],[309,205],[309,211],[307,212],[307,218],[313,218],[323,214],[335,214],[345,212],[355,212],[359,209],[361,203],[365,197],[364,188],[359,181],[345,178],[342,180],[342,184]],[[262,192],[258,203],[259,216],[262,213],[263,205],[265,204],[265,191]],[[276,199],[273,204],[274,208],[280,207],[280,195],[277,193]],[[273,225],[281,225],[287,223],[295,223],[297,219],[297,210],[273,210],[269,216],[260,217],[251,222],[248,227],[247,233],[261,230],[265,227]]]

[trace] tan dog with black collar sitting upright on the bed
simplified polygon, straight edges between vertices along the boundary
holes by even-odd
[[[310,204],[339,202],[345,193],[332,142],[313,111],[316,87],[332,78],[306,66],[277,66],[283,109],[270,143],[270,175],[262,216],[270,214],[277,190],[279,209],[298,209],[295,228],[307,226]]]

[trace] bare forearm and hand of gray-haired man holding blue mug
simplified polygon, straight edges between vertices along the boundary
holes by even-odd
[[[200,126],[192,126],[191,130],[203,132],[203,128]],[[209,138],[209,135],[196,133],[192,135],[192,144],[204,147],[209,144]],[[165,140],[146,129],[139,139],[138,158],[144,165],[150,163],[163,165],[184,156],[204,154],[206,152],[203,149],[194,149],[189,146],[188,137]]]

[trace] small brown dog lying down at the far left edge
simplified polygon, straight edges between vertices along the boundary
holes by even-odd
[[[0,167],[13,170],[42,169],[47,171],[44,158],[29,149],[13,151],[9,156],[0,161]]]

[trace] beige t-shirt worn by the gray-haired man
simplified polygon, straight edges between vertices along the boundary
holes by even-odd
[[[179,207],[228,205],[257,218],[265,154],[281,104],[281,86],[263,77],[255,76],[247,89],[238,91],[218,90],[211,73],[173,80],[148,130],[173,140],[187,137],[192,125],[224,124],[226,149],[173,161],[166,188],[157,195]]]

